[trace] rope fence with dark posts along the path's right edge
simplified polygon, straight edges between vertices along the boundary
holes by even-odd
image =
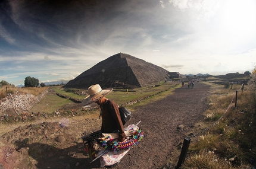
[[[210,129],[211,127],[213,127],[214,125],[216,125],[220,119],[222,119],[222,117],[227,113],[227,110],[229,110],[229,108],[231,107],[233,101],[234,101],[234,98],[235,98],[235,107],[233,107],[233,109],[236,108],[236,104],[237,104],[237,100],[238,100],[238,91],[243,91],[243,85],[241,86],[241,88],[239,88],[239,90],[236,90],[236,94],[233,94],[233,98],[232,98],[232,101],[230,102],[229,106],[227,107],[226,111],[222,114],[222,116],[216,121],[214,122],[212,125],[210,125],[209,127],[203,129],[201,132],[198,132],[196,134],[193,134],[192,136],[188,136],[184,139],[183,141],[183,145],[182,145],[182,151],[180,152],[180,158],[179,158],[179,161],[177,163],[177,166],[176,166],[176,169],[177,168],[180,168],[182,166],[182,164],[184,163],[185,161],[185,158],[186,158],[186,154],[188,153],[188,148],[189,148],[189,144],[191,142],[191,138],[193,137],[197,137],[198,135],[201,135],[202,133],[204,133],[205,131],[207,131],[208,129]]]

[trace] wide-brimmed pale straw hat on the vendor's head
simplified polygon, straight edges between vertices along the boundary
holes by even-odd
[[[102,90],[99,84],[91,85],[88,88],[89,95],[82,101],[82,104],[87,105],[93,103],[105,95],[111,93],[111,91],[113,91],[113,88]]]

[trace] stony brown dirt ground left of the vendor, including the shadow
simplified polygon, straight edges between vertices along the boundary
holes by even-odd
[[[100,124],[95,117],[19,126],[2,135],[0,163],[4,168],[83,168],[89,159],[80,138]]]

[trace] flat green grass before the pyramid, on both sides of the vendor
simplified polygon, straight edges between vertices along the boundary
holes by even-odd
[[[176,87],[180,87],[180,83],[174,82],[161,82],[159,84],[151,85],[148,87],[143,88],[136,88],[130,90],[129,93],[126,93],[126,90],[113,90],[110,94],[107,95],[108,98],[115,101],[118,105],[136,101],[141,98],[148,97],[149,95],[154,95],[154,100],[166,97]],[[39,103],[36,103],[32,110],[33,112],[42,111],[43,113],[52,113],[56,110],[60,110],[63,106],[67,106],[68,104],[74,104],[73,101],[69,100],[68,98],[59,97],[56,93],[60,93],[62,95],[66,95],[68,97],[83,99],[86,95],[78,95],[74,92],[81,92],[86,90],[77,90],[77,89],[68,89],[64,90],[61,86],[51,87],[49,94],[43,97]],[[153,96],[152,96],[153,97]],[[152,100],[144,100],[143,103],[136,104],[147,104],[148,101]],[[134,106],[129,106],[129,109],[133,109]]]

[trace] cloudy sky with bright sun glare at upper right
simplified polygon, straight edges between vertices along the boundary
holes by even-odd
[[[0,1],[0,81],[68,81],[116,53],[180,74],[256,65],[255,0]]]

